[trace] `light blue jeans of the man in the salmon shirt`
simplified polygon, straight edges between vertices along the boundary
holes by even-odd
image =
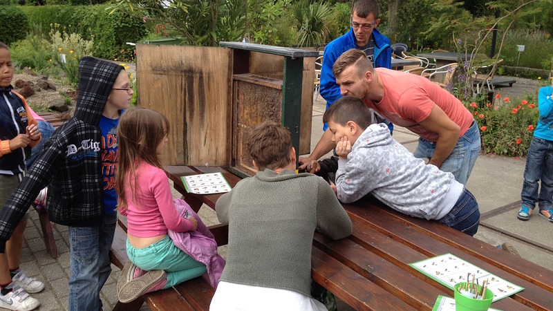
[[[419,138],[417,150],[415,150],[413,155],[415,158],[431,159],[435,149],[435,142]],[[449,157],[440,166],[440,170],[453,173],[458,182],[466,185],[478,154],[480,154],[480,129],[478,129],[478,124],[474,121],[467,130],[467,133],[459,138]]]

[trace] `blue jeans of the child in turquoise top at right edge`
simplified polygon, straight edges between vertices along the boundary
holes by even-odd
[[[538,196],[538,181],[541,190]],[[536,201],[540,209],[553,208],[553,141],[534,137],[526,156],[522,205],[534,209]]]

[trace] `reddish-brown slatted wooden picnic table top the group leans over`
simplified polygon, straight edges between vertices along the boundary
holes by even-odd
[[[188,194],[180,176],[220,171],[231,187],[241,180],[222,167],[165,169],[189,204],[213,209],[221,194]],[[447,253],[525,288],[492,308],[553,310],[553,273],[543,267],[435,221],[400,214],[371,197],[343,206],[353,234],[339,241],[315,234],[312,278],[355,310],[432,310],[438,295],[453,297],[452,290],[409,265]]]

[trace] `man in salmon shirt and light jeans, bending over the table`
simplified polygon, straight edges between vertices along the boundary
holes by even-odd
[[[382,117],[420,136],[415,157],[467,183],[480,153],[480,131],[460,100],[426,77],[373,68],[357,49],[338,57],[332,73],[341,95],[361,98]]]

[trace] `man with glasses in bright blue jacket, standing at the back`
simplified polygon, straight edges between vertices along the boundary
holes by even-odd
[[[359,0],[353,6],[351,28],[345,35],[332,40],[324,48],[323,66],[321,68],[320,94],[326,100],[326,109],[341,97],[340,87],[336,84],[336,77],[332,74],[332,66],[338,57],[350,48],[363,50],[374,67],[392,68],[392,50],[390,40],[382,35],[376,27],[380,22],[378,14],[380,7],[376,0]],[[382,122],[383,120],[379,120]],[[392,124],[388,124],[390,130]],[[330,150],[334,149],[332,135],[328,125],[323,126],[325,131],[321,140],[308,158],[299,157],[299,169],[305,169],[311,160],[317,160]]]

